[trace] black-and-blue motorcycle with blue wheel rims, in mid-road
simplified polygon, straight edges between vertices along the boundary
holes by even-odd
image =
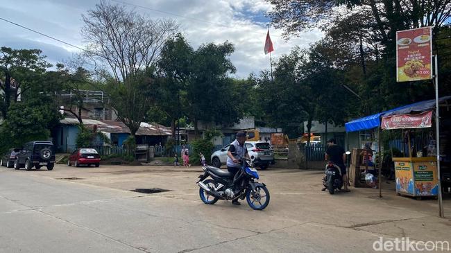
[[[203,174],[197,182],[199,195],[205,204],[214,204],[218,200],[244,200],[250,208],[263,210],[269,204],[269,191],[266,185],[256,182],[259,179],[257,170],[250,159],[239,159],[241,168],[231,175],[228,171],[213,166],[203,166]],[[207,179],[207,177],[210,177]]]

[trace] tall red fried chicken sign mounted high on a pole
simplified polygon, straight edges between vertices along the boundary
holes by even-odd
[[[432,28],[396,32],[396,80],[432,79]]]

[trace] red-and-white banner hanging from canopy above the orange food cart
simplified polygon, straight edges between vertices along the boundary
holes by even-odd
[[[382,117],[382,129],[430,128],[432,111]]]

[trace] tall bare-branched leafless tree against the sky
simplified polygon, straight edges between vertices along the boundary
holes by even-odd
[[[82,35],[90,43],[88,55],[108,66],[112,78],[105,77],[104,89],[117,116],[135,137],[155,101],[151,76],[160,49],[178,26],[172,20],[154,21],[105,1],[83,15],[83,22]]]

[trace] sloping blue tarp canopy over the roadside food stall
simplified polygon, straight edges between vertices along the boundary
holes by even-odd
[[[444,96],[439,99],[439,103],[444,101],[448,101],[451,99],[451,96]],[[373,114],[370,116],[365,116],[360,119],[355,119],[345,124],[346,132],[355,132],[360,130],[368,130],[373,128],[380,127],[380,117],[381,116],[389,116],[395,114],[411,114],[415,112],[425,112],[427,110],[431,110],[435,107],[435,99],[428,101],[421,101],[417,103],[413,103],[411,105],[404,105],[401,107],[394,108],[392,110],[388,110],[385,112],[379,112],[377,114]]]

